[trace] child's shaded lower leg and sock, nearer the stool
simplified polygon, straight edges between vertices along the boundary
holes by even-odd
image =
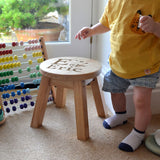
[[[106,129],[111,129],[127,122],[125,94],[111,93],[111,99],[116,114],[104,120],[103,126]]]

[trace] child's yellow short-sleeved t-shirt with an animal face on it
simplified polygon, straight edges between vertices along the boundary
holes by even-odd
[[[111,29],[111,69],[126,79],[153,74],[160,67],[160,38],[134,31],[140,31],[136,26],[140,14],[160,22],[160,0],[108,0],[100,19]]]

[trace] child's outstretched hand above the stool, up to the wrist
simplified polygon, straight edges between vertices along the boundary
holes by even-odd
[[[91,36],[92,36],[92,29],[90,27],[84,27],[76,34],[75,39],[81,40],[81,38],[85,39]]]

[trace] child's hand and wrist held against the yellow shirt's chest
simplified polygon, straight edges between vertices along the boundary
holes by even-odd
[[[140,28],[144,32],[153,33],[160,38],[160,23],[155,22],[150,16],[142,16],[140,18]]]

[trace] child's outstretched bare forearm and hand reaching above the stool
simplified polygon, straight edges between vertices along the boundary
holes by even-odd
[[[85,39],[87,37],[91,37],[96,34],[101,34],[108,32],[110,29],[102,25],[101,23],[97,23],[92,27],[84,27],[82,28],[75,36],[76,39],[81,40],[81,38]]]

